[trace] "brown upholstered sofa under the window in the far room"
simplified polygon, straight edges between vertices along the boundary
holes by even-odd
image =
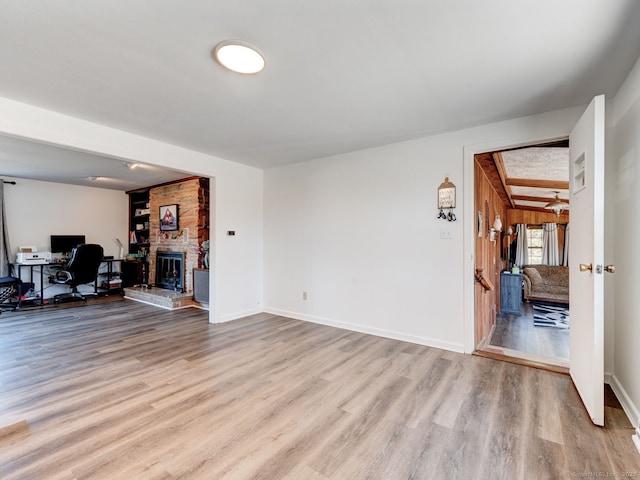
[[[569,304],[569,267],[525,265],[522,267],[525,301]]]

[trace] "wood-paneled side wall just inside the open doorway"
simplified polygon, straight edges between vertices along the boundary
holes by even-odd
[[[475,162],[475,215],[476,249],[475,267],[483,269],[485,278],[493,284],[493,290],[486,290],[475,283],[475,340],[476,345],[487,338],[495,324],[496,311],[500,307],[500,271],[506,267],[506,259],[501,258],[501,236],[491,241],[489,228],[496,214],[500,215],[503,230],[507,226],[507,211],[498,193],[494,190],[478,161]],[[478,226],[478,212],[482,215],[482,226]],[[480,231],[479,231],[480,230]]]

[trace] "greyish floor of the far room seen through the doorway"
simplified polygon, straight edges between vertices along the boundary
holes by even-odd
[[[534,326],[533,308],[529,303],[524,304],[522,313],[497,314],[489,344],[568,362],[569,330]]]

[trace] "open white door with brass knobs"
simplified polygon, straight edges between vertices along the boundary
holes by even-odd
[[[604,425],[604,95],[571,132],[570,371],[596,425]]]

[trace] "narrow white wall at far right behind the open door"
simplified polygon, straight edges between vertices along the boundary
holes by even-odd
[[[614,98],[613,130],[616,273],[612,386],[627,413],[637,420],[637,427],[640,425],[640,60]]]

